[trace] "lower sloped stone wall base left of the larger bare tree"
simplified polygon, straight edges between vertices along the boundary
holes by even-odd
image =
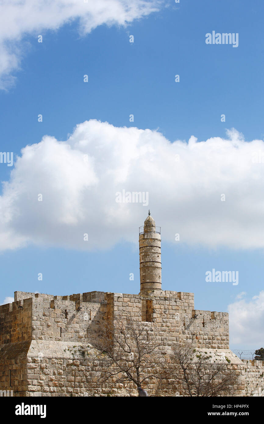
[[[146,323],[150,325],[150,323]],[[98,382],[100,368],[80,354],[83,344],[76,342],[33,342],[28,352],[28,392],[26,396],[128,396],[122,384]],[[39,356],[44,351],[45,357]],[[138,396],[135,385],[129,384],[132,396]],[[149,395],[159,396],[161,388],[151,382]]]

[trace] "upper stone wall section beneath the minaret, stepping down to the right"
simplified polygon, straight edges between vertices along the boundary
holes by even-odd
[[[228,313],[194,310],[193,293],[164,293],[164,297],[144,298],[110,293],[106,296],[108,311],[140,319],[146,310],[144,302],[151,301],[152,325],[164,340],[164,349],[171,351],[173,343],[181,341],[199,348],[229,349]]]

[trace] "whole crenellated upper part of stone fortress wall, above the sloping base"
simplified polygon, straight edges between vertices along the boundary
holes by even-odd
[[[161,296],[92,291],[67,296],[15,292],[0,306],[0,344],[25,340],[87,342],[89,329],[103,317],[131,317],[155,326],[168,346],[228,348],[228,314],[194,309],[194,294],[166,290]]]

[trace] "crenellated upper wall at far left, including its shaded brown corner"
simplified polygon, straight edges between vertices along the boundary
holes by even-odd
[[[0,306],[0,345],[25,340],[80,341],[103,311],[104,295],[96,291],[70,296],[15,292],[14,302]]]

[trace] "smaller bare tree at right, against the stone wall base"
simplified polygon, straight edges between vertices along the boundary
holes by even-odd
[[[233,394],[238,384],[236,371],[229,368],[228,358],[210,361],[211,355],[187,345],[174,347],[175,385],[183,387],[189,396],[225,396]]]

